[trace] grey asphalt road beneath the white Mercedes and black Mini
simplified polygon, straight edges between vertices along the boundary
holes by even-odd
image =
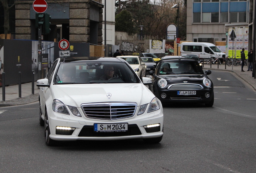
[[[0,173],[255,173],[256,93],[228,72],[209,76],[214,106],[165,106],[164,137],[154,145],[70,141],[47,147],[38,103],[0,108]]]

